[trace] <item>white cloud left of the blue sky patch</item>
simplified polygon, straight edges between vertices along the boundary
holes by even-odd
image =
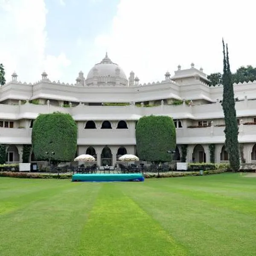
[[[44,0],[0,0],[0,14],[0,63],[6,68],[6,80],[15,70],[21,81],[38,81],[49,60],[53,68],[50,72],[46,69],[50,79],[60,79],[61,69],[70,62],[63,53],[58,57],[45,54]]]

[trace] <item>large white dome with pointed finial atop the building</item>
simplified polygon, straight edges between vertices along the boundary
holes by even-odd
[[[96,79],[94,79],[96,78]],[[108,58],[108,53],[106,52],[105,58],[89,71],[85,83],[87,85],[94,84],[97,80],[97,84],[113,84],[113,85],[128,85],[128,79],[125,72],[116,63],[113,63],[110,58]]]

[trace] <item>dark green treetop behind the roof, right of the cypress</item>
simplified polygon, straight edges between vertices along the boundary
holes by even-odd
[[[239,69],[236,70],[236,73],[232,75],[232,78],[235,83],[254,81],[256,80],[256,68],[250,65],[247,67],[239,67]]]

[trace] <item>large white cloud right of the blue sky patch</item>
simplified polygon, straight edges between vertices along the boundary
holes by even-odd
[[[94,58],[108,49],[112,61],[141,81],[163,80],[177,65],[191,62],[207,73],[222,70],[222,37],[229,44],[231,68],[256,66],[251,0],[120,0],[111,32],[95,39]]]

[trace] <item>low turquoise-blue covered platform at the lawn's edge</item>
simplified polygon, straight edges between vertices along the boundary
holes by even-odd
[[[144,177],[140,173],[133,174],[74,174],[72,181],[144,181]]]

